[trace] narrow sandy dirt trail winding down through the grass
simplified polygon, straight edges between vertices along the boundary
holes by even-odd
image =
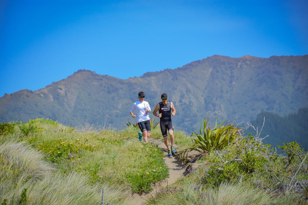
[[[155,196],[156,194],[160,193],[160,191],[170,186],[172,183],[176,182],[181,176],[184,176],[185,167],[179,166],[179,162],[175,156],[168,156],[166,145],[164,144],[164,140],[156,140],[156,139],[149,139],[149,142],[158,146],[158,148],[162,149],[164,152],[164,160],[167,166],[169,167],[169,178],[164,179],[162,182],[156,183],[152,186],[153,191],[147,194],[135,194],[133,197],[138,201],[139,205],[144,204],[144,202],[151,196]],[[176,146],[175,146],[176,148]]]

